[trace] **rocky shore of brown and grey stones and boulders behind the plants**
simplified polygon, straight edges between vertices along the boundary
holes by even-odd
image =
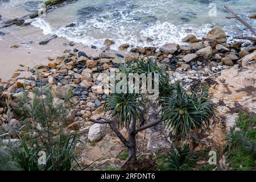
[[[162,47],[131,47],[122,44],[116,52],[110,49],[113,40],[107,39],[105,49],[98,56],[89,56],[83,49],[66,49],[63,55],[48,57],[47,65],[28,68],[22,76],[21,71],[17,71],[10,81],[0,83],[0,125],[8,123],[7,98],[15,106],[16,98],[23,92],[32,97],[34,88],[49,86],[55,94],[54,101],[60,104],[64,102],[63,93],[73,90],[75,97],[68,130],[77,131],[84,142],[81,146],[82,162],[89,164],[103,157],[106,165],[121,166],[122,161],[117,156],[125,147],[106,124],[93,124],[89,119],[103,115],[102,109],[109,94],[109,90],[104,88],[105,74],[109,75],[110,69],[119,72],[120,61],[130,63],[138,58],[146,60],[151,57],[159,66],[166,65],[172,82],[179,80],[187,90],[196,90],[200,86],[207,88],[216,105],[216,117],[212,118],[210,131],[191,136],[189,142],[195,150],[220,148],[225,143],[226,133],[234,126],[237,113],[241,110],[256,111],[255,42],[226,43],[226,38],[225,32],[216,27],[203,40],[189,34],[183,39],[184,45],[168,43]],[[150,117],[154,112],[150,109],[148,122],[154,119]],[[18,119],[12,118],[9,125],[22,133],[24,126],[15,126]],[[15,134],[13,138],[16,138]],[[159,125],[140,133],[140,140],[147,144],[138,144],[139,153],[148,154],[170,148],[174,138],[163,125]],[[225,168],[225,152],[221,151],[221,154],[220,164]]]

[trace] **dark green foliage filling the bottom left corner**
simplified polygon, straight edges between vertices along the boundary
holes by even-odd
[[[19,168],[11,160],[10,154],[3,150],[3,148],[0,148],[0,171],[18,171]]]

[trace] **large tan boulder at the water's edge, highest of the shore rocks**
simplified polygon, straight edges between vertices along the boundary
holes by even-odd
[[[220,27],[216,27],[209,31],[207,37],[203,39],[212,43],[225,43],[226,34]]]

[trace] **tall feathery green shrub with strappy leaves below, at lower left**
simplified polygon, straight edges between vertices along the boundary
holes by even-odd
[[[21,147],[11,152],[16,163],[26,171],[67,171],[76,162],[76,134],[65,133],[71,108],[71,95],[57,104],[50,88],[34,90],[30,100],[25,93],[19,98],[16,113],[20,115],[26,132],[20,137]],[[46,165],[39,165],[39,151],[46,152]]]

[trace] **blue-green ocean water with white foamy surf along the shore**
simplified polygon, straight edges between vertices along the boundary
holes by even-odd
[[[36,11],[40,2],[0,0],[0,14],[3,19],[26,15]],[[256,29],[256,20],[246,18],[256,14],[255,0],[77,0],[32,20],[31,24],[45,35],[57,35],[86,46],[102,47],[109,38],[115,41],[113,49],[122,43],[132,46],[181,43],[185,35],[192,33],[202,38],[214,26],[223,27],[228,35],[250,35],[238,20],[225,18],[230,16],[225,4]],[[209,11],[214,13],[214,7],[216,14],[209,14]],[[70,23],[75,26],[67,27]],[[147,38],[153,41],[147,42]]]

